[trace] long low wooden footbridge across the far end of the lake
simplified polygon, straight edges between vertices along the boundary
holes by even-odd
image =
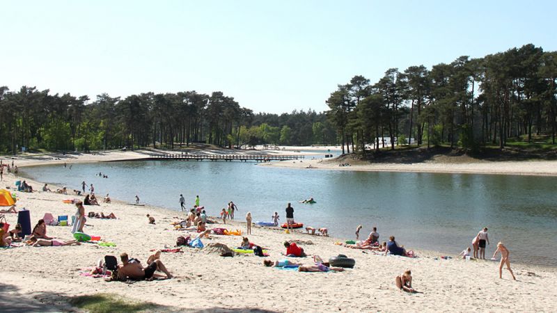
[[[176,161],[290,161],[304,159],[303,155],[268,155],[268,154],[149,154],[149,160]]]

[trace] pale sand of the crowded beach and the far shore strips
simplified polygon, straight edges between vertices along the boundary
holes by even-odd
[[[17,157],[17,166],[63,162],[95,162],[122,159],[141,159],[143,152],[105,152],[95,155]],[[59,159],[58,159],[59,158]],[[6,162],[6,158],[3,158]],[[304,159],[303,162],[274,162],[264,166],[289,166],[334,170],[392,170],[423,172],[479,172],[513,175],[557,175],[555,161],[489,162],[460,164],[377,164],[339,167],[338,162]],[[13,188],[15,177],[4,175],[1,187]],[[27,182],[40,189],[40,182]],[[146,182],[146,185],[149,183]],[[56,186],[50,186],[56,188]],[[13,189],[12,189],[13,191]],[[72,204],[62,200],[80,198],[49,192],[22,193],[15,191],[17,207],[31,211],[31,227],[46,212],[54,216],[75,214]],[[202,203],[203,205],[203,203]],[[276,208],[279,214],[283,209]],[[508,271],[503,279],[498,275],[499,262],[441,259],[437,252],[416,251],[418,257],[393,257],[338,246],[334,237],[311,236],[295,232],[253,227],[251,242],[269,248],[269,257],[236,255],[220,257],[203,249],[182,248],[181,253],[163,253],[162,262],[175,276],[171,280],[154,282],[104,282],[102,278],[81,275],[104,255],[127,252],[145,265],[152,249],[173,248],[176,237],[188,232],[174,230],[171,222],[184,217],[182,212],[159,207],[138,207],[115,201],[88,206],[86,212],[113,212],[118,219],[88,218],[84,232],[101,236],[102,240],[116,243],[116,247],[103,247],[95,243],[81,246],[40,247],[29,246],[1,250],[0,258],[0,310],[10,308],[27,312],[74,310],[68,299],[98,293],[119,294],[126,298],[155,303],[160,311],[186,312],[409,312],[423,311],[539,311],[554,312],[557,290],[551,288],[557,278],[556,268],[512,264],[517,281]],[[244,213],[237,220],[244,220]],[[154,216],[156,225],[148,225],[146,214]],[[6,214],[11,228],[17,214]],[[208,225],[245,231],[245,223]],[[364,225],[369,229],[373,225]],[[49,226],[47,234],[59,239],[72,239],[71,227]],[[391,234],[381,230],[380,240]],[[194,232],[189,235],[195,236]],[[367,234],[361,234],[366,236]],[[392,234],[396,235],[396,234]],[[350,238],[353,239],[353,238]],[[308,255],[319,255],[327,260],[345,254],[356,260],[356,266],[344,272],[299,273],[262,265],[263,259],[281,259],[284,241],[296,240]],[[240,246],[241,236],[211,235],[202,239],[209,243],[224,243],[230,248]],[[493,244],[491,249],[493,251]],[[510,259],[512,261],[512,243]],[[411,247],[408,247],[411,248]],[[464,248],[464,247],[463,247]],[[486,255],[491,257],[491,255]],[[312,264],[313,258],[291,259]],[[407,294],[395,288],[394,278],[407,268],[411,269],[413,286],[419,294]]]

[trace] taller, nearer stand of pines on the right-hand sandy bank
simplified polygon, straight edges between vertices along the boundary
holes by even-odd
[[[370,83],[363,76],[338,85],[327,115],[343,153],[395,143],[441,143],[473,150],[505,146],[508,138],[557,130],[557,53],[524,45],[483,58],[460,56],[428,70],[387,70]],[[380,143],[379,141],[382,141]]]

